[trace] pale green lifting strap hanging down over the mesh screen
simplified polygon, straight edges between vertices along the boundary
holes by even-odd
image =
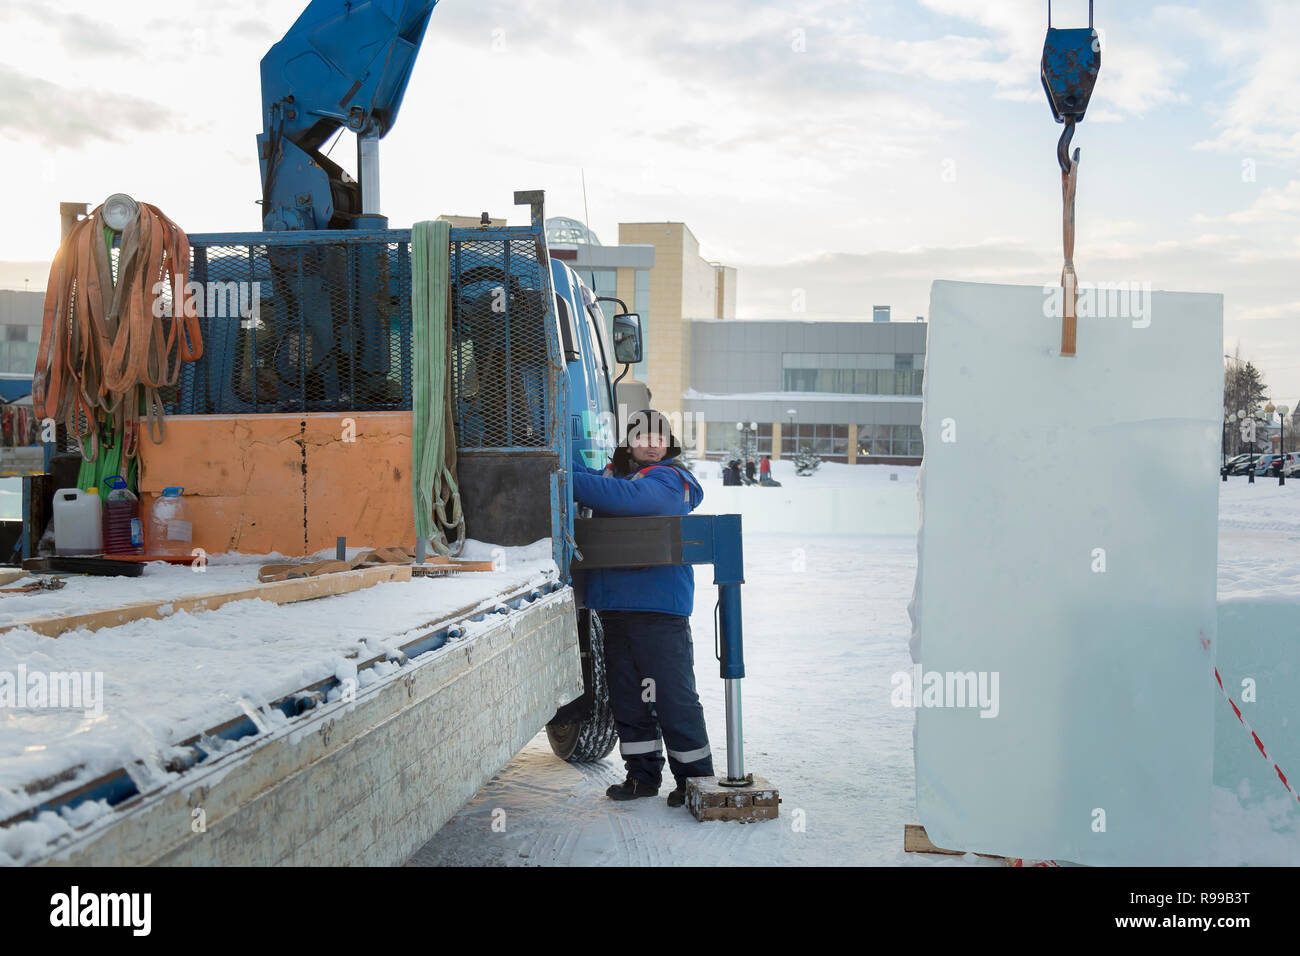
[[[465,516],[456,488],[456,433],[447,388],[451,367],[451,225],[411,228],[411,494],[417,540],[460,554]]]

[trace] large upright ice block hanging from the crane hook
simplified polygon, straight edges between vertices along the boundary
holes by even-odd
[[[1044,287],[933,284],[909,610],[940,847],[1206,860],[1223,300],[1145,299],[1080,308],[1062,358]]]

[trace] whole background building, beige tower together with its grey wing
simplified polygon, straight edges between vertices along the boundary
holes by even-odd
[[[890,321],[889,306],[874,306],[871,321],[738,320],[736,269],[701,256],[684,222],[620,222],[618,246],[575,219],[546,226],[551,255],[641,315],[632,377],[682,423],[686,447],[715,459],[806,446],[831,462],[920,462],[923,321]]]

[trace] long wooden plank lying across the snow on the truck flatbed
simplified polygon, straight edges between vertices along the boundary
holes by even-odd
[[[83,611],[78,614],[62,614],[51,618],[30,618],[16,620],[12,624],[0,627],[0,633],[14,628],[26,627],[46,637],[57,637],[68,631],[99,631],[104,627],[117,627],[133,620],[151,618],[162,620],[178,611],[211,611],[233,601],[270,601],[272,604],[296,604],[298,601],[312,601],[317,597],[330,597],[332,594],[346,594],[363,588],[372,588],[376,584],[387,581],[410,581],[410,564],[387,564],[384,567],[368,567],[356,571],[343,571],[339,574],[321,575],[320,578],[295,578],[287,581],[273,581],[270,584],[255,584],[240,591],[218,591],[207,594],[190,594],[186,597],[173,597],[165,601],[138,601],[135,604],[107,607],[98,611]],[[166,607],[166,613],[161,609]]]

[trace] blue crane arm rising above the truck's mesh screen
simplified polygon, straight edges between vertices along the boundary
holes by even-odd
[[[261,60],[263,224],[330,229],[361,213],[359,185],[320,152],[339,129],[396,122],[438,0],[311,0]]]

